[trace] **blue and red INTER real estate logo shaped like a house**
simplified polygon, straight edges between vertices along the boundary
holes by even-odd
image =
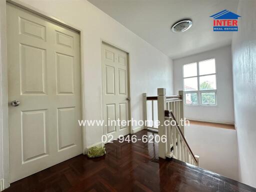
[[[213,31],[238,31],[238,14],[229,10],[222,10],[210,17],[213,17]]]

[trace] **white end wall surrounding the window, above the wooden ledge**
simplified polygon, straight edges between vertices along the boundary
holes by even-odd
[[[184,116],[193,120],[204,120],[222,123],[233,123],[233,85],[231,46],[224,46],[199,54],[173,60],[174,94],[183,89],[183,64],[215,58],[217,105],[216,106],[184,106]]]

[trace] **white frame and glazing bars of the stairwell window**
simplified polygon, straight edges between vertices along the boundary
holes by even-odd
[[[215,73],[209,73],[209,74],[202,74],[202,75],[199,75],[199,62],[201,61],[206,61],[206,60],[211,60],[211,59],[214,59],[214,64],[215,64]],[[194,103],[186,103],[186,98],[184,99],[184,104],[185,105],[188,105],[188,106],[216,106],[217,105],[217,72],[216,72],[216,62],[215,62],[215,58],[208,58],[208,59],[204,59],[204,60],[197,60],[197,61],[194,61],[194,62],[189,62],[189,63],[186,63],[186,64],[191,64],[191,63],[195,63],[196,62],[196,69],[197,69],[197,75],[196,76],[188,76],[188,77],[184,77],[184,65],[186,64],[183,64],[182,66],[182,78],[183,78],[183,91],[184,91],[184,96],[186,93],[197,93],[197,103],[194,104]],[[200,90],[200,82],[199,82],[199,79],[200,79],[200,76],[207,76],[207,75],[215,75],[215,82],[216,82],[216,89],[207,89],[207,90]],[[184,87],[184,79],[185,78],[192,78],[192,77],[197,77],[197,90],[185,90],[185,87]],[[214,92],[215,93],[215,104],[202,104],[201,103],[201,93],[203,92]]]

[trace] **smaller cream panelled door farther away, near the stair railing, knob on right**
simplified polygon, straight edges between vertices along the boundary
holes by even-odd
[[[113,139],[129,134],[129,126],[121,123],[129,119],[127,53],[102,43],[102,79],[104,133]],[[120,123],[108,121],[120,120]],[[108,140],[109,141],[109,140]]]

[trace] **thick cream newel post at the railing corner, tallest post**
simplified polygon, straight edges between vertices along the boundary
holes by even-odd
[[[160,136],[158,143],[159,157],[165,158],[167,152],[167,143],[162,142],[162,135],[166,138],[166,127],[164,126],[164,110],[166,110],[166,89],[157,88],[157,110],[158,110],[158,135]]]

